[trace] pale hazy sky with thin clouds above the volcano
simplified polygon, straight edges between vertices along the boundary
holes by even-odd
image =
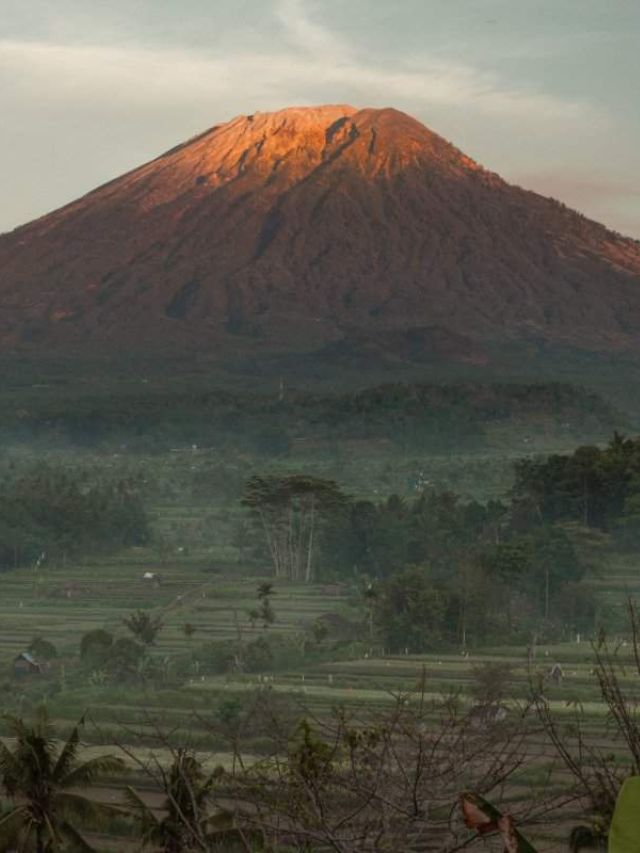
[[[640,238],[640,0],[0,0],[0,233],[239,114],[404,110]]]

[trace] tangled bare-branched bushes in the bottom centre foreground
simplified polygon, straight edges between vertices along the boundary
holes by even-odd
[[[335,708],[321,720],[307,712],[293,736],[274,717],[271,760],[247,761],[228,779],[236,820],[260,828],[274,850],[485,847],[453,811],[469,788],[502,806],[505,780],[525,754],[522,720],[478,729],[460,704],[429,700],[424,675],[415,692],[394,698],[383,711]],[[515,829],[548,808],[522,802],[509,822]]]

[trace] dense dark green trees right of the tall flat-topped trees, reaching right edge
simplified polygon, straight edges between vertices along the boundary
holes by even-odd
[[[640,438],[523,459],[504,503],[444,493],[350,503],[327,525],[325,565],[377,579],[371,607],[392,648],[566,636],[595,627],[577,529],[640,545]],[[538,630],[540,628],[541,630]]]

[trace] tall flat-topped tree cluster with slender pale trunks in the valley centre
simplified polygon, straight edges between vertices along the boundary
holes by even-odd
[[[313,580],[321,523],[346,503],[338,485],[305,474],[252,477],[242,503],[263,529],[276,577]]]

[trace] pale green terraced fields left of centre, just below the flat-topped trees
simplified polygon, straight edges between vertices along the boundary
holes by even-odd
[[[159,574],[159,585],[145,580],[146,572]],[[62,656],[73,656],[87,631],[126,633],[122,620],[137,609],[162,616],[157,647],[163,654],[188,650],[185,622],[195,627],[199,642],[232,638],[239,624],[257,636],[247,611],[255,605],[260,580],[221,574],[210,561],[160,564],[143,549],[118,559],[6,572],[0,576],[1,665],[6,668],[36,636],[53,642]],[[275,601],[277,630],[290,634],[346,604],[332,587],[291,584],[277,588]]]

